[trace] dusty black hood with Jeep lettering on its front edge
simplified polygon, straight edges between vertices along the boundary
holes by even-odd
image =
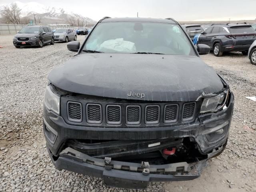
[[[48,79],[74,93],[149,101],[195,101],[223,89],[214,69],[197,56],[80,54],[52,70]],[[140,95],[129,97],[130,92]]]

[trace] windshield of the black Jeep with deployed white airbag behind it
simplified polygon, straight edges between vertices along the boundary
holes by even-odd
[[[180,26],[157,22],[99,23],[90,34],[83,50],[195,55]]]

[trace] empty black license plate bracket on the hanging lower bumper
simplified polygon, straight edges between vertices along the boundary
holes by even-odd
[[[146,189],[149,182],[149,176],[142,173],[132,173],[117,170],[104,170],[103,181],[106,185],[119,188]]]

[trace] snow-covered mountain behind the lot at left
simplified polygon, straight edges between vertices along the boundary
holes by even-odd
[[[18,5],[18,8],[21,9],[21,18],[26,20],[32,19],[33,14],[36,14],[37,18],[40,18],[43,24],[64,24],[68,22],[76,22],[81,25],[85,23],[95,23],[96,21],[91,18],[84,17],[80,14],[76,14],[74,12],[67,12],[63,8],[49,7],[44,6],[43,4],[37,2],[28,2],[22,3],[19,1],[14,2]],[[4,6],[8,6],[10,4],[0,5],[0,10],[4,8]]]

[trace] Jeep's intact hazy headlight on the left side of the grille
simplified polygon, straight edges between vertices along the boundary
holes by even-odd
[[[44,105],[48,110],[52,110],[58,115],[60,114],[60,96],[52,91],[50,85],[46,87],[46,91],[44,93]]]

